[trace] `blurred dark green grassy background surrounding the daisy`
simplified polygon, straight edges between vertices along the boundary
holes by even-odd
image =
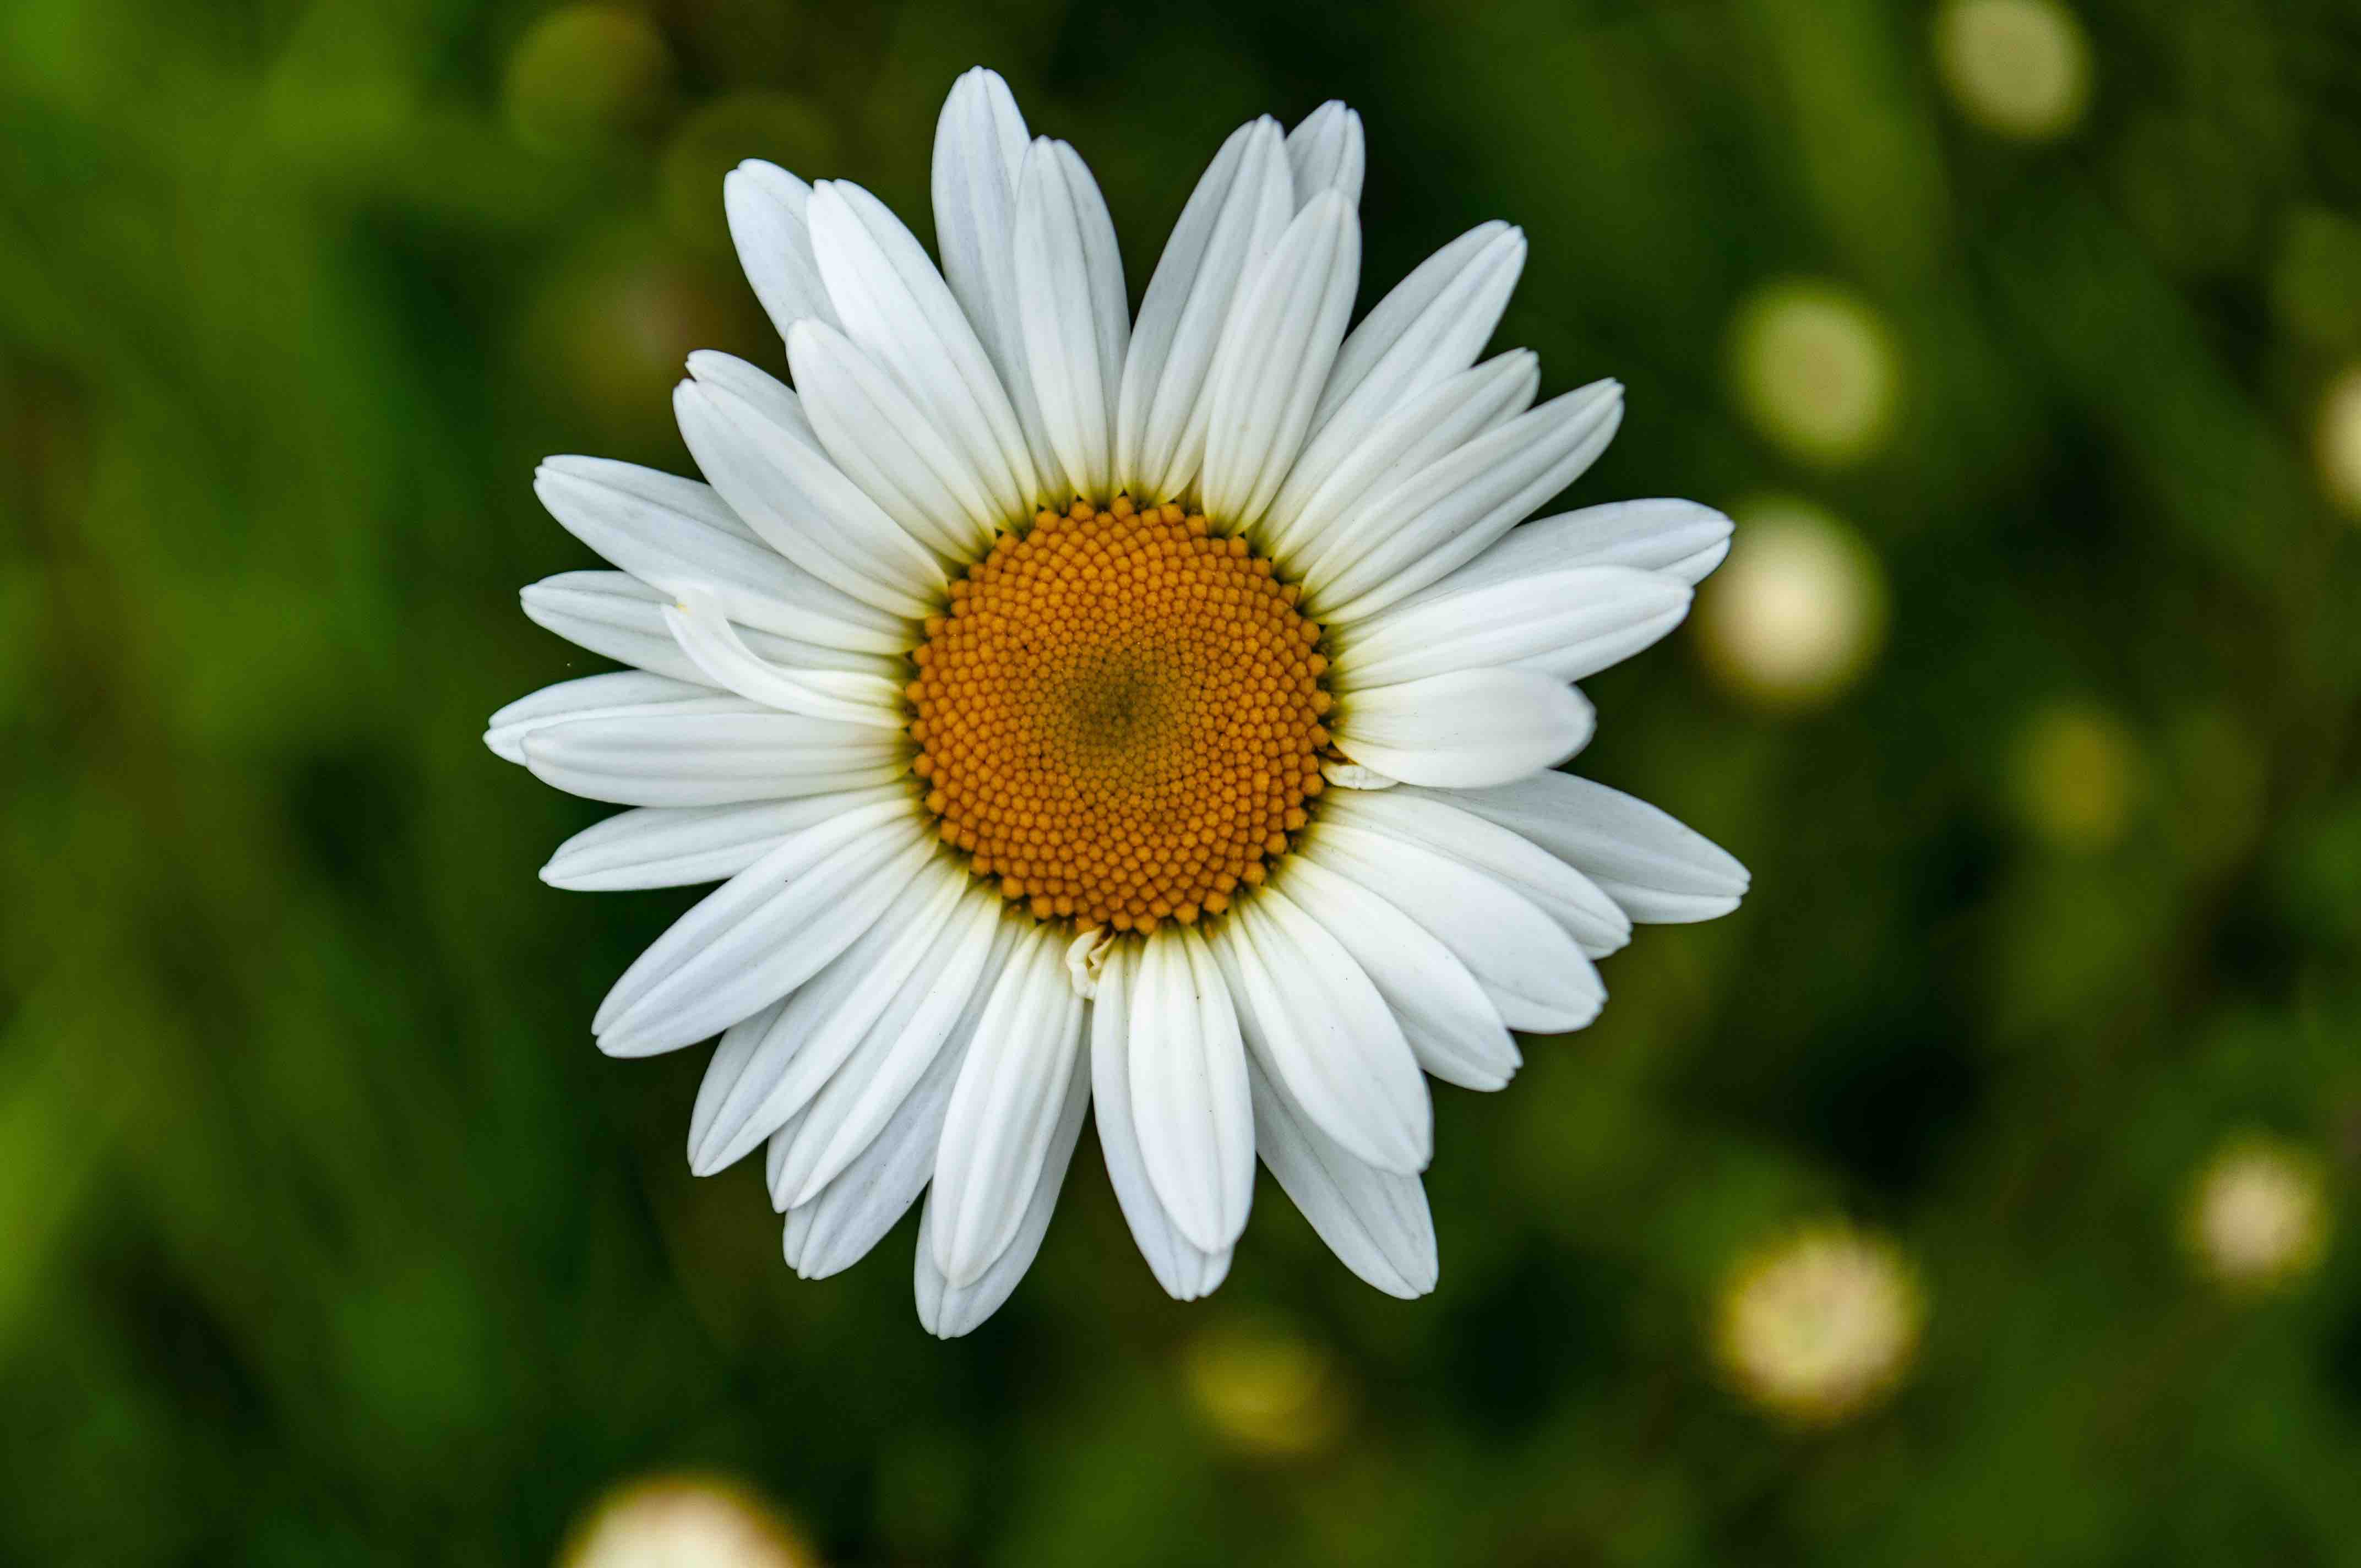
[[[2229,1138],[2361,1169],[2361,12],[1150,14],[0,7],[0,1559],[543,1563],[696,1471],[831,1563],[2361,1561],[2361,1247],[2184,1242]],[[1785,541],[1582,763],[1754,895],[1438,1089],[1426,1301],[1265,1181],[1176,1306],[1091,1143],[968,1341],[914,1219],[793,1280],[689,1178],[704,1053],[590,1048],[694,893],[543,888],[600,808],[477,739],[597,666],[517,614],[595,564],[534,460],[685,472],[682,354],[784,373],[722,170],[926,236],[975,61],[1133,298],[1232,125],[1346,97],[1362,302],[1520,222],[1502,342],[1629,385],[1575,498]],[[1712,1325],[1818,1216],[1929,1315],[1799,1429]]]

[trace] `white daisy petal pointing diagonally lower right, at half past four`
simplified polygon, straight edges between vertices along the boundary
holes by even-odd
[[[1461,1089],[1499,1089],[1523,1058],[1469,966],[1414,919],[1327,867],[1294,855],[1287,897],[1343,942],[1393,1008],[1419,1067]]]

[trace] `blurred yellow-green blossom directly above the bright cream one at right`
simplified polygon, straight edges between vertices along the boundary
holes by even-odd
[[[1901,385],[1877,312],[1809,281],[1773,283],[1747,300],[1731,328],[1731,373],[1764,435],[1830,465],[1884,442]]]

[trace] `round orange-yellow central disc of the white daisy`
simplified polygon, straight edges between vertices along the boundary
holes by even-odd
[[[1242,538],[1077,501],[951,583],[909,685],[944,843],[1041,919],[1228,909],[1320,793],[1320,628]]]

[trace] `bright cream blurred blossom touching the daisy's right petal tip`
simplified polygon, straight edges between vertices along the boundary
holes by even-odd
[[[1731,560],[1698,593],[1712,673],[1768,708],[1849,687],[1886,633],[1886,583],[1860,538],[1806,501],[1738,508]]]

